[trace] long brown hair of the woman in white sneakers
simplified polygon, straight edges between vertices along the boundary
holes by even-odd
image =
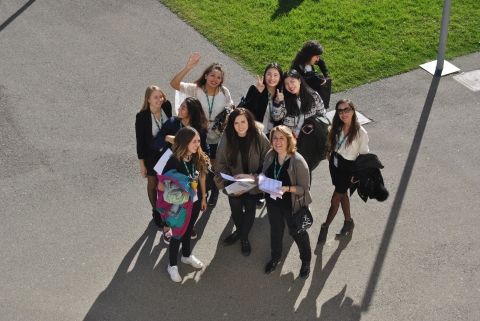
[[[187,155],[188,145],[192,142],[195,136],[198,136],[198,138],[200,139],[198,131],[191,126],[183,127],[175,135],[172,152],[179,161],[181,161],[183,157]],[[203,152],[200,146],[198,147],[197,152],[195,154],[192,154],[192,161],[193,166],[195,166],[195,168],[200,172],[200,174],[207,173],[208,157]]]

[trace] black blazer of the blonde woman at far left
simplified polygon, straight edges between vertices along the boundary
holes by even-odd
[[[166,101],[162,104],[162,110],[167,115],[167,119],[172,117],[172,104]],[[149,158],[154,150],[151,149],[152,143],[152,116],[150,108],[137,113],[135,119],[135,135],[137,138],[137,156],[138,159]]]

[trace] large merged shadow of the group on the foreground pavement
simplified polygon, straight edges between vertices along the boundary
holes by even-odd
[[[197,222],[199,235],[208,217]],[[271,275],[264,273],[270,257],[269,227],[266,215],[256,218],[250,234],[252,254],[244,257],[240,244],[223,246],[224,238],[234,228],[228,220],[217,243],[211,244],[211,261],[202,270],[180,263],[183,280],[175,284],[166,272],[168,247],[151,221],[84,320],[215,320],[225,316],[244,320],[258,319],[265,313],[273,318],[294,315],[293,305],[305,281],[291,272],[282,275],[282,266]],[[285,238],[285,249],[292,244],[291,238]],[[197,241],[192,240],[192,248],[195,245]]]

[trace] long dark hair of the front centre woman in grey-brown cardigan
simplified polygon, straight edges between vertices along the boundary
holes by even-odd
[[[252,150],[252,148],[256,148],[257,151],[259,151],[260,148],[260,133],[257,129],[257,126],[255,125],[255,116],[248,109],[235,108],[235,110],[228,115],[227,126],[225,127],[224,133],[228,142],[228,162],[232,167],[235,167],[237,165],[238,153],[240,152],[239,136],[237,131],[235,130],[235,119],[240,115],[244,115],[248,123],[246,135],[247,146],[245,150],[248,153]]]

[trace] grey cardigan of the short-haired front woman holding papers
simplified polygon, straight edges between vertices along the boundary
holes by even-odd
[[[265,156],[265,162],[263,163],[263,174],[273,163],[277,153],[270,150]],[[298,211],[302,205],[309,205],[312,203],[312,197],[310,196],[310,172],[308,171],[308,165],[305,159],[299,153],[293,153],[290,158],[290,166],[287,169],[288,176],[290,177],[291,186],[295,186],[296,192],[290,193],[292,195],[293,213]],[[303,200],[303,193],[305,192],[305,201]],[[298,195],[298,196],[295,196]]]

